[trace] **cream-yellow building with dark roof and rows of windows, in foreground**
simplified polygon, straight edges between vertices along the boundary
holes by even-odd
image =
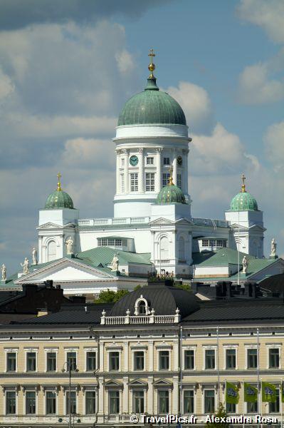
[[[201,426],[225,402],[226,382],[240,395],[228,414],[280,423],[283,309],[279,299],[204,302],[149,282],[114,305],[1,325],[0,427],[66,426],[69,399],[75,426],[147,427],[142,414],[194,415]],[[244,382],[261,381],[274,385],[276,402],[245,402]]]

